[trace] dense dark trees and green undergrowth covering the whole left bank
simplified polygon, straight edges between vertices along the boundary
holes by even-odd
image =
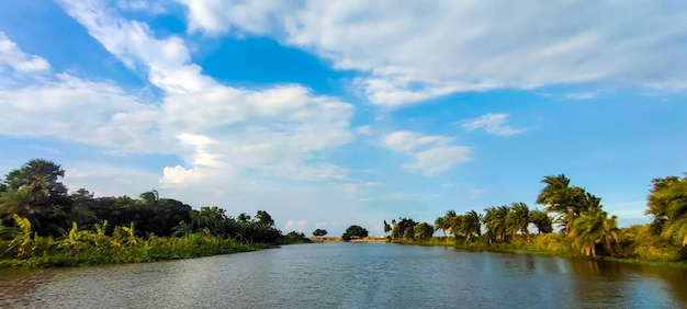
[[[147,262],[306,241],[302,233],[282,236],[264,210],[233,218],[157,191],[138,198],[94,197],[86,188],[69,194],[64,175],[59,164],[35,159],[0,182],[0,266]]]

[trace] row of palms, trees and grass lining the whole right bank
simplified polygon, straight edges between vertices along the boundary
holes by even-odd
[[[460,248],[585,255],[642,261],[687,261],[687,176],[654,179],[649,193],[649,225],[618,228],[601,198],[571,185],[564,174],[542,180],[537,196],[542,210],[525,203],[492,206],[463,215],[448,210],[433,226],[409,218],[384,221],[395,242],[451,244]],[[560,227],[553,232],[553,226]],[[432,238],[441,230],[444,238]],[[453,236],[447,240],[446,236]]]

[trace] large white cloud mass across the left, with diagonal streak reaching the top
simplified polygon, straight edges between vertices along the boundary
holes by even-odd
[[[109,82],[67,73],[13,88],[0,83],[0,108],[7,118],[0,122],[0,134],[54,137],[99,146],[108,153],[176,154],[184,164],[161,172],[160,183],[170,190],[229,185],[247,174],[300,181],[347,176],[346,169],[327,162],[325,152],[352,140],[351,104],[296,84],[255,91],[221,85],[189,62],[180,38],[157,39],[146,24],[124,20],[102,2],[60,3],[127,66],[147,70],[150,81],[166,90],[164,98],[145,102]],[[1,38],[2,50],[42,59]],[[185,79],[177,80],[181,76]],[[205,91],[193,93],[199,89]],[[41,126],[25,125],[35,119]]]

